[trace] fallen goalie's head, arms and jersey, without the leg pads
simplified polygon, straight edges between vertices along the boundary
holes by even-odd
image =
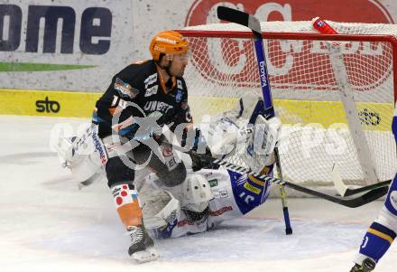
[[[263,167],[263,173],[270,172],[272,163]],[[147,178],[140,196],[144,224],[156,239],[203,232],[240,217],[263,204],[271,187],[225,167],[191,172],[175,187],[155,188],[153,183],[158,183],[155,174]]]

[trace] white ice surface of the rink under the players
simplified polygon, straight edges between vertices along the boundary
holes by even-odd
[[[106,183],[78,190],[49,147],[51,128],[87,120],[0,116],[0,271],[343,272],[383,202],[349,209],[290,199],[284,235],[278,199],[218,230],[157,241],[161,258],[134,264]],[[375,271],[397,271],[395,245]]]

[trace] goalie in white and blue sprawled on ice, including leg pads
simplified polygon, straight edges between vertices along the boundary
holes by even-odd
[[[271,174],[272,151],[280,138],[281,122],[276,117],[270,120],[253,117],[260,100],[256,95],[240,98],[235,108],[203,123],[200,129],[212,155],[224,159],[238,157],[242,166]],[[250,121],[254,121],[254,125]],[[94,125],[73,141],[61,139],[59,146],[64,165],[85,185],[99,179],[104,172],[103,150]],[[252,211],[269,195],[271,184],[252,175],[238,174],[225,167],[208,168],[194,155],[190,157],[175,150],[172,154],[178,155],[186,166],[188,175],[183,183],[171,187],[155,173],[142,178],[136,176],[134,180],[143,205],[145,228],[156,238],[180,237],[212,229],[223,220]]]

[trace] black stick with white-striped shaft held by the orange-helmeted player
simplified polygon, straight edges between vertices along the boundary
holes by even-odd
[[[253,175],[256,179],[263,181],[264,183],[273,183],[273,184],[282,184],[286,187],[289,187],[293,190],[299,191],[299,192],[304,192],[307,193],[309,195],[314,195],[317,196],[319,198],[328,200],[329,202],[334,202],[337,203],[339,205],[343,205],[349,208],[356,208],[356,207],[360,207],[365,205],[366,203],[369,202],[373,202],[374,200],[377,200],[378,198],[382,197],[384,194],[386,194],[386,192],[388,192],[389,190],[389,186],[383,186],[380,188],[375,188],[374,190],[371,190],[369,192],[365,192],[365,194],[357,196],[355,198],[345,198],[345,197],[337,197],[337,196],[332,196],[329,195],[327,193],[324,192],[318,192],[318,191],[314,191],[311,190],[309,188],[306,187],[302,187],[298,184],[294,184],[294,183],[289,183],[286,182],[280,178],[276,178],[273,177],[271,175],[268,174],[259,174],[256,173],[250,169],[247,169],[243,166],[240,165],[236,165],[236,164],[232,164],[230,162],[227,162],[226,160],[223,159],[217,159],[217,158],[213,158],[209,155],[203,155],[203,154],[198,154],[196,152],[194,152],[193,150],[189,150],[186,149],[184,147],[181,147],[179,145],[172,145],[168,142],[162,142],[162,144],[164,145],[169,145],[171,148],[178,150],[180,152],[183,153],[187,153],[189,154],[192,158],[196,157],[199,158],[200,163],[205,164],[205,165],[211,165],[211,164],[215,164],[215,165],[220,165],[220,166],[225,166],[226,168],[233,170],[237,173],[240,174],[251,174]]]

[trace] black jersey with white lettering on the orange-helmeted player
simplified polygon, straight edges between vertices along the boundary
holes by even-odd
[[[113,77],[105,94],[98,99],[93,121],[99,125],[98,135],[112,134],[112,127],[121,136],[133,137],[137,124],[134,117],[162,113],[162,124],[191,122],[188,89],[181,77],[163,82],[154,61],[133,63]],[[116,129],[115,129],[116,127]]]

